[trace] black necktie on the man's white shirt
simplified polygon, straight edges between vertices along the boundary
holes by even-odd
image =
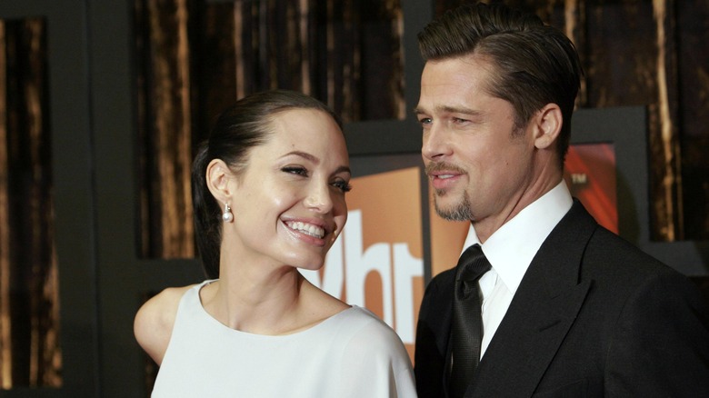
[[[455,266],[451,357],[451,397],[462,397],[480,361],[483,318],[477,280],[490,269],[479,244],[468,247]]]

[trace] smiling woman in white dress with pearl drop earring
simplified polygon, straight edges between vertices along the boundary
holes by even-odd
[[[310,284],[345,226],[350,169],[324,104],[271,91],[238,101],[195,158],[209,280],[135,316],[160,371],[154,397],[415,396],[404,345],[372,313]]]

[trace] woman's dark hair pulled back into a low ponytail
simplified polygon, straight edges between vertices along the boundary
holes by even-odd
[[[212,160],[221,159],[235,174],[242,173],[251,149],[265,144],[274,134],[272,122],[277,114],[294,109],[325,112],[342,129],[340,118],[315,98],[295,91],[272,90],[248,95],[227,108],[217,117],[209,138],[200,144],[192,166],[192,204],[197,250],[207,278],[219,277],[224,211],[207,187],[207,166]]]

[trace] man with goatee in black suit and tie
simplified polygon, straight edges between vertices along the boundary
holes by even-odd
[[[503,5],[453,10],[419,45],[436,211],[470,220],[466,247],[482,245],[475,261],[491,266],[475,282],[459,263],[426,287],[419,395],[709,396],[698,289],[596,224],[564,184],[582,75],[574,45]],[[461,329],[481,307],[457,308],[481,298],[482,330]]]

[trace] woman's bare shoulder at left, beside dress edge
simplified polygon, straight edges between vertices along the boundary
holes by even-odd
[[[170,343],[170,336],[175,324],[177,306],[185,292],[194,285],[168,287],[145,302],[137,313],[133,323],[135,340],[158,365]]]

